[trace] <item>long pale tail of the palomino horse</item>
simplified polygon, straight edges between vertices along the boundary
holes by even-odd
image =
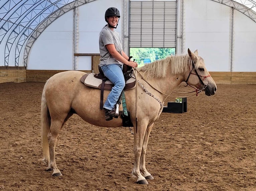
[[[46,81],[43,87],[42,99],[41,99],[41,137],[42,137],[42,147],[43,147],[43,157],[44,162],[48,164],[50,161],[49,156],[49,143],[47,139],[47,135],[50,130],[51,125],[51,117],[49,113],[49,109],[47,106],[46,98],[45,98],[45,90],[48,84],[48,80]]]

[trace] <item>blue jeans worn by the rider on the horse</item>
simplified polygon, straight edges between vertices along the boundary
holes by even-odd
[[[119,64],[109,64],[102,66],[101,69],[104,75],[114,84],[103,108],[113,110],[122,90],[125,87],[122,66]]]

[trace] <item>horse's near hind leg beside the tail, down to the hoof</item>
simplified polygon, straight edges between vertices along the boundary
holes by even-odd
[[[57,168],[56,161],[55,161],[55,145],[57,141],[58,133],[63,125],[63,121],[54,119],[51,120],[50,131],[48,133],[48,142],[49,142],[49,154],[50,154],[50,161],[47,167],[48,170],[53,170],[52,176],[62,176],[61,172]]]

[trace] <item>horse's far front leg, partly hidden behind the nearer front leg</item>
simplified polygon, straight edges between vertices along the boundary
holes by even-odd
[[[146,170],[146,165],[145,165],[145,155],[146,155],[146,150],[147,150],[148,138],[149,138],[149,134],[151,132],[153,125],[154,125],[154,123],[152,123],[146,130],[146,133],[145,133],[145,136],[143,139],[141,156],[140,156],[140,172],[148,180],[154,179],[153,176]]]

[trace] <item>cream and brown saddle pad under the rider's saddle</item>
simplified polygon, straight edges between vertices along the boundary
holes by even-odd
[[[101,89],[102,80],[95,78],[94,75],[95,75],[94,73],[85,74],[84,76],[82,76],[80,81],[84,83],[86,86]],[[113,86],[114,85],[112,84],[112,82],[107,80],[105,82],[104,90],[111,91]],[[130,78],[129,80],[127,80],[124,90],[133,89],[135,88],[135,86],[136,86],[136,80],[134,78]]]

